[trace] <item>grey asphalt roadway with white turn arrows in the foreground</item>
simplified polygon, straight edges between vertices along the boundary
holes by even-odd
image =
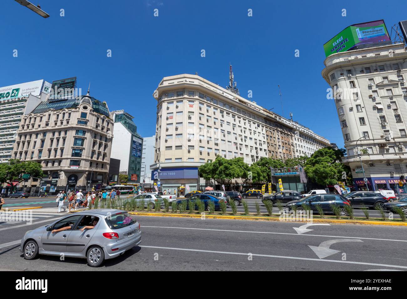
[[[140,246],[100,268],[74,258],[24,260],[18,240],[61,216],[33,214],[30,225],[0,223],[0,270],[407,270],[405,227],[315,224],[299,234],[293,227],[304,223],[149,216],[137,217]]]

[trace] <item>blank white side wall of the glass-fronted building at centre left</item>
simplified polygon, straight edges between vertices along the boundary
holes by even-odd
[[[120,160],[120,171],[129,167],[131,133],[121,122],[114,123],[111,158]]]

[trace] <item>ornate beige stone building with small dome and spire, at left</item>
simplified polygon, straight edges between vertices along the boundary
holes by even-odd
[[[22,117],[12,157],[41,163],[43,191],[100,189],[107,183],[113,126],[106,102],[89,94],[48,100]],[[39,184],[30,179],[24,190],[38,192]]]

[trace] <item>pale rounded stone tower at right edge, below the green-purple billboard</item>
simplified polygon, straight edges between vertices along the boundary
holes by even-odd
[[[339,52],[324,61],[322,76],[332,87],[348,152],[342,161],[359,190],[366,189],[363,170],[369,190],[397,193],[398,181],[405,181],[406,59],[404,44],[390,44]]]

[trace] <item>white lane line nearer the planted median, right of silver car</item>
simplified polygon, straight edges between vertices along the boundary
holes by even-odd
[[[295,226],[295,223],[293,223]],[[297,223],[299,224],[299,223]],[[392,242],[407,242],[407,240],[396,240],[396,239],[383,239],[383,238],[366,238],[366,237],[350,237],[350,236],[330,236],[330,235],[314,235],[314,234],[297,234],[297,233],[279,233],[274,231],[241,231],[241,230],[231,230],[231,229],[206,229],[206,228],[195,228],[195,227],[166,227],[166,226],[151,226],[151,225],[140,225],[140,227],[149,228],[166,228],[166,229],[190,229],[190,230],[201,230],[201,231],[225,231],[225,232],[238,232],[247,234],[276,234],[276,235],[290,235],[290,236],[309,236],[309,237],[326,237],[326,238],[351,238],[351,239],[361,239],[361,240],[378,240],[378,241],[392,241]]]

